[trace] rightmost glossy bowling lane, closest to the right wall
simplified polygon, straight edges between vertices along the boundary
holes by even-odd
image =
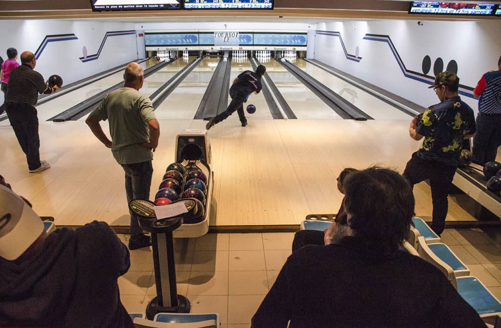
[[[294,58],[292,63],[374,119],[410,120],[412,118],[408,114],[370,95],[364,90],[341,80],[340,78],[324,71],[320,67],[304,61],[303,59]]]

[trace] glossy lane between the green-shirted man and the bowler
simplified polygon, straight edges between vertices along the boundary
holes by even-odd
[[[189,62],[194,59],[195,57],[189,57]],[[219,58],[202,59],[156,108],[157,119],[192,120],[218,63]]]

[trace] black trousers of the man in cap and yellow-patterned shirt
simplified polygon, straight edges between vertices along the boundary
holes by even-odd
[[[445,217],[449,206],[447,196],[455,173],[455,166],[445,165],[436,160],[422,159],[417,155],[417,151],[412,154],[403,173],[412,186],[429,180],[433,202],[430,228],[439,236],[445,227]]]

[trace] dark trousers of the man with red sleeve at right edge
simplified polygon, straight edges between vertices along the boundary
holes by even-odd
[[[501,114],[478,113],[473,137],[473,161],[484,165],[496,159],[501,145]]]

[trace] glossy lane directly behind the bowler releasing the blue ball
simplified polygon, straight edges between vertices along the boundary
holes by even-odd
[[[266,65],[266,63],[263,63],[263,65]],[[231,86],[231,83],[233,82],[233,79],[236,78],[240,73],[243,71],[253,71],[254,69],[252,68],[252,65],[250,65],[250,61],[247,57],[233,57],[231,60],[231,73],[230,73],[230,80],[229,80],[229,85]],[[231,98],[228,96],[228,104],[231,102]],[[245,111],[245,116],[247,117],[247,121],[250,124],[250,121],[254,119],[272,119],[272,114],[270,113],[270,109],[268,108],[268,104],[266,102],[265,96],[263,92],[260,92],[259,94],[251,94],[250,97],[248,98],[247,102],[243,104],[243,109],[247,107],[247,105],[253,104],[256,106],[256,112],[254,114],[248,114],[247,111]],[[237,123],[239,124],[238,121],[238,115],[234,113],[228,119],[231,120],[236,120]]]

